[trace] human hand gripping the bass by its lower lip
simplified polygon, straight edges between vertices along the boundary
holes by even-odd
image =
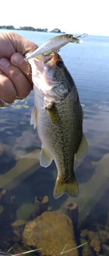
[[[38,46],[13,32],[0,32],[0,106],[2,100],[12,103],[16,96],[24,98],[33,89],[32,75],[27,75],[24,54]],[[31,72],[31,67],[30,67]]]

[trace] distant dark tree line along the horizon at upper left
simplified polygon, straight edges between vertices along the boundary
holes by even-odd
[[[45,28],[45,29],[39,29],[39,28],[37,28],[37,29],[35,29],[35,28],[33,28],[33,27],[19,27],[18,29],[15,29],[14,28],[14,26],[0,26],[0,29],[13,29],[13,30],[28,30],[28,31],[41,31],[41,32],[48,32],[48,29],[47,28]],[[53,30],[51,30],[51,31],[49,31],[49,32],[52,32],[52,33],[65,33],[65,32],[61,32],[61,30],[60,29],[53,29]]]

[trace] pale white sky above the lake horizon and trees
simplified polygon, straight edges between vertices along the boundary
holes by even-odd
[[[6,0],[1,2],[0,26],[58,28],[73,34],[109,36],[108,0]]]

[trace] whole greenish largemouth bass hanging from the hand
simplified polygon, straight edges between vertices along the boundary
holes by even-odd
[[[52,159],[58,169],[54,198],[64,193],[76,198],[74,156],[80,161],[88,151],[83,134],[83,110],[78,92],[61,56],[55,52],[29,60],[34,82],[34,109],[31,124],[42,142],[40,164],[47,167]]]

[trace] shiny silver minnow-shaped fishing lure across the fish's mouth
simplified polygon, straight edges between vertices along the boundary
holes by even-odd
[[[39,48],[37,48],[33,53],[31,53],[26,60],[30,58],[37,58],[38,56],[50,54],[56,50],[59,50],[61,47],[67,45],[69,42],[74,42],[75,44],[80,44],[83,40],[73,37],[73,35],[65,34],[58,35],[44,42]]]

